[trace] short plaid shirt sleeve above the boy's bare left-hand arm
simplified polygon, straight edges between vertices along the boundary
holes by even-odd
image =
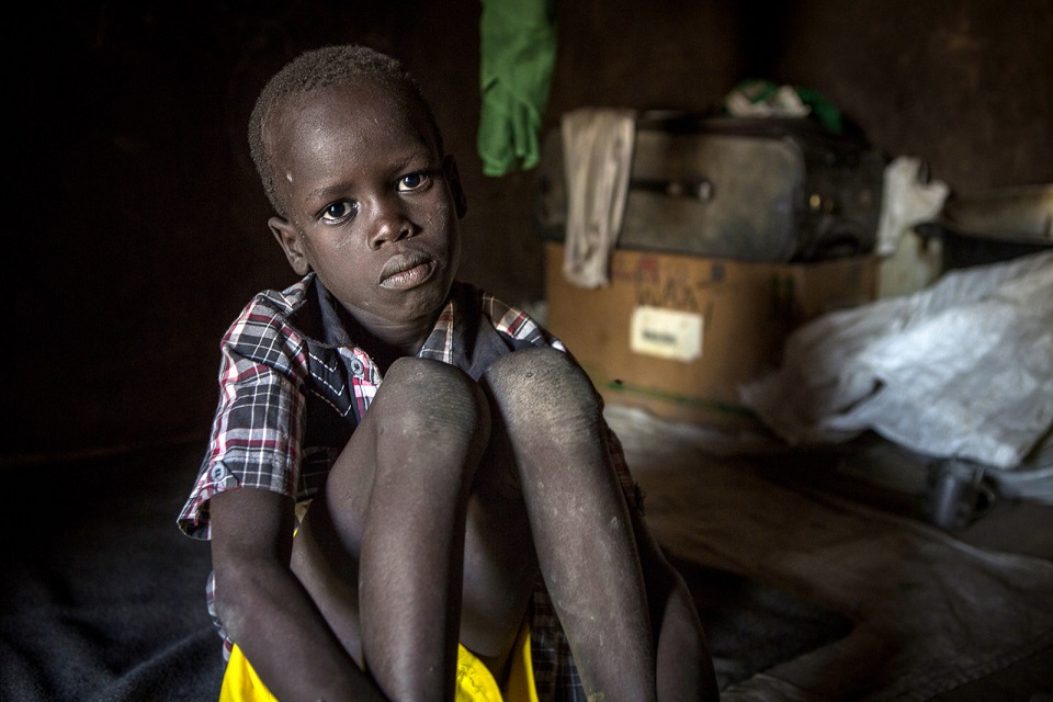
[[[208,500],[254,487],[295,495],[306,403],[306,343],[264,306],[252,304],[222,344],[219,404],[180,529],[210,537]]]

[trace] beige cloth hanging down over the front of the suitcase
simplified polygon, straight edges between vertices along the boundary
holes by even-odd
[[[561,127],[567,181],[563,273],[580,287],[601,287],[625,213],[636,112],[581,107],[565,114]]]

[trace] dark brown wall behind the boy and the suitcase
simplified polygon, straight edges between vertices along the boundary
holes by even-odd
[[[486,178],[475,151],[480,11],[37,2],[10,21],[3,465],[205,435],[222,332],[295,280],[245,125],[307,48],[360,42],[407,64],[468,192],[462,276],[541,297],[533,174]],[[760,77],[819,91],[955,193],[1051,182],[1051,36],[1049,0],[564,0],[545,126],[585,105],[705,110]]]

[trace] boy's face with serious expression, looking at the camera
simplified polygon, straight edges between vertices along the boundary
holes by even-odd
[[[380,338],[434,321],[461,254],[456,167],[419,113],[343,82],[282,109],[264,134],[288,215],[271,230],[297,273],[314,270]]]

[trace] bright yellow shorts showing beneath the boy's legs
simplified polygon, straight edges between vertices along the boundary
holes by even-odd
[[[530,659],[530,627],[525,624],[516,639],[511,670],[503,694],[486,665],[457,645],[456,702],[537,702],[534,670]],[[278,702],[237,646],[230,652],[223,676],[219,702]]]

